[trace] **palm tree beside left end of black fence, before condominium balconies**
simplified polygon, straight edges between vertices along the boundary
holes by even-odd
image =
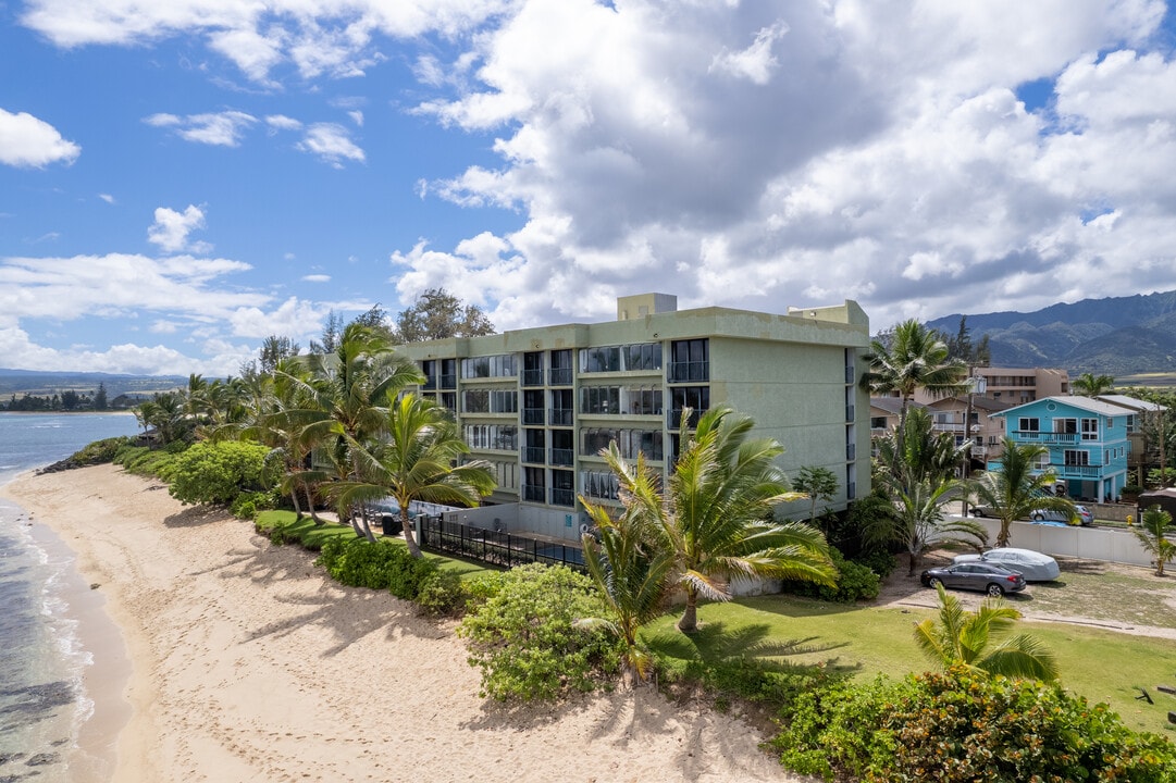
[[[494,469],[485,460],[454,466],[469,447],[449,411],[433,400],[412,393],[389,399],[386,417],[382,439],[352,447],[359,478],[332,489],[347,506],[394,497],[408,551],[420,557],[409,516],[412,504],[476,506],[496,487]]]

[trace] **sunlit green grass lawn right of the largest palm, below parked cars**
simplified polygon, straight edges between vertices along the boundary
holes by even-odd
[[[755,655],[782,664],[817,664],[871,678],[901,677],[934,668],[915,645],[913,629],[930,609],[846,607],[786,595],[740,598],[699,608],[703,629],[687,637],[677,615],[648,625],[643,635],[662,655],[720,660]],[[1105,702],[1132,729],[1176,740],[1168,711],[1176,697],[1155,690],[1176,685],[1176,642],[1063,623],[1021,622],[1058,658],[1062,684],[1091,703]],[[799,651],[789,651],[796,645]],[[787,652],[786,655],[781,655]],[[761,655],[762,654],[762,655]],[[1148,688],[1154,704],[1136,701]]]

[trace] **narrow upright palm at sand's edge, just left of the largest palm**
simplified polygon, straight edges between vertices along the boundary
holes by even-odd
[[[660,476],[646,467],[643,455],[637,456],[636,469],[632,470],[615,442],[602,455],[617,475],[626,474],[624,483],[643,483],[649,490],[660,482]],[[666,609],[674,553],[659,546],[657,530],[636,513],[637,506],[627,506],[614,520],[603,507],[583,496],[580,502],[596,526],[595,536],[583,536],[584,564],[613,610],[613,620],[589,617],[577,624],[604,627],[619,636],[624,644],[626,664],[640,680],[647,680],[653,656],[639,643],[637,630]]]

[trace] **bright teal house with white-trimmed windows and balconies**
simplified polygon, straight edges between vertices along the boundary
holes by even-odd
[[[1091,397],[1055,396],[991,415],[1004,417],[1005,434],[1017,443],[1049,449],[1037,469],[1053,471],[1069,497],[1112,501],[1127,484],[1128,433],[1136,410]]]

